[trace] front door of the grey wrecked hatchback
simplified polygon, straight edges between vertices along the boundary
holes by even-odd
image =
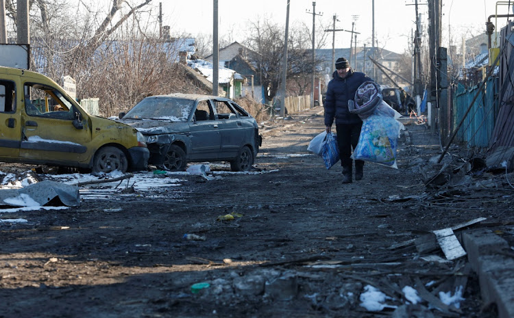
[[[191,153],[189,159],[215,160],[219,157],[221,137],[218,121],[208,100],[199,101],[195,107],[195,115],[189,124],[191,137]]]

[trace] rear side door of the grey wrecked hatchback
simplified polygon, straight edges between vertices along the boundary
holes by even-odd
[[[245,140],[249,139],[247,137],[249,132],[245,122],[241,120],[228,101],[215,100],[213,105],[215,105],[221,137],[220,158],[232,159],[238,155]]]

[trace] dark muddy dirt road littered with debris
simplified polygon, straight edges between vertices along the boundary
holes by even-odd
[[[367,163],[347,185],[339,163],[326,170],[306,150],[323,129],[318,107],[265,123],[254,173],[211,165],[210,181],[88,185],[79,207],[2,213],[30,221],[0,224],[0,317],[496,317],[465,258],[420,254],[413,240],[513,208],[498,194],[434,196],[419,168],[437,139],[402,122],[398,169]]]

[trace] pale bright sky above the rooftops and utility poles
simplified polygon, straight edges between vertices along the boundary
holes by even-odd
[[[155,1],[155,0],[154,0]],[[219,0],[219,36],[223,31],[235,31],[241,29],[247,21],[256,21],[256,18],[273,18],[277,23],[285,25],[287,0],[260,0],[260,1],[235,1]],[[487,17],[495,14],[497,1],[494,0],[442,0],[443,1],[443,46],[448,45],[448,31],[452,38],[462,42],[462,34],[467,37],[476,36],[480,31],[485,31]],[[163,23],[170,25],[175,31],[185,31],[195,34],[212,34],[212,0],[190,1],[156,1],[158,7],[162,2]],[[315,12],[315,27],[321,28],[321,24],[332,27],[333,16],[336,14],[339,22],[336,29],[352,29],[357,34],[358,46],[366,44],[371,46],[372,0],[317,0]],[[424,24],[428,21],[427,0],[419,0],[419,13]],[[500,1],[504,2],[504,1]],[[408,38],[415,29],[415,0],[375,0],[375,33],[379,47],[385,47],[389,51],[403,53],[408,45]],[[302,21],[312,29],[313,25],[313,1],[291,0],[289,10],[290,26],[295,21]],[[512,11],[510,11],[512,12]],[[507,5],[498,6],[498,14],[509,13]],[[451,21],[449,28],[448,21]],[[506,19],[498,20],[500,27]],[[494,22],[494,21],[493,21]],[[500,29],[500,27],[498,29]],[[428,33],[428,29],[425,30]],[[243,42],[244,34],[232,34],[234,40]],[[350,32],[336,32],[336,48],[350,47]],[[327,49],[332,48],[332,35],[330,34]]]

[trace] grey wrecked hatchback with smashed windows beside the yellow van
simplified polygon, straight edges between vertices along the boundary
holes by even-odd
[[[148,164],[169,171],[195,161],[228,161],[232,171],[248,171],[262,144],[256,120],[219,96],[149,96],[120,113],[119,121],[145,135]]]

